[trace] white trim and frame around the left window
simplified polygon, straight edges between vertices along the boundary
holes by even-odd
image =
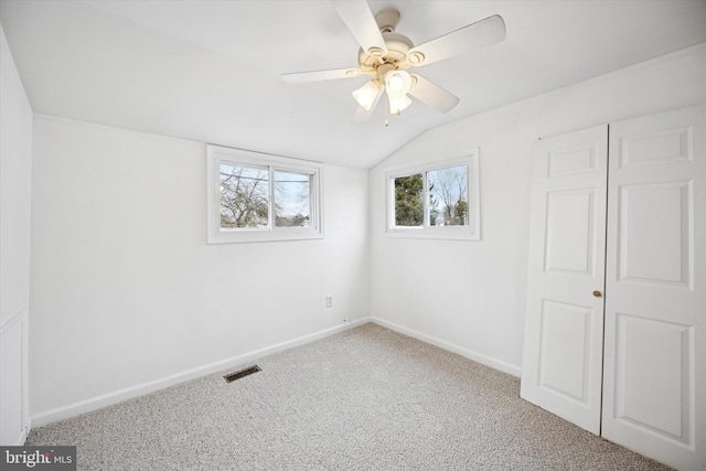
[[[221,162],[269,168],[269,171],[302,172],[312,175],[310,227],[267,227],[223,229],[221,227]],[[232,244],[249,242],[301,240],[323,238],[322,202],[323,165],[318,162],[291,159],[280,156],[206,146],[206,211],[208,244]],[[274,208],[270,199],[270,221]]]

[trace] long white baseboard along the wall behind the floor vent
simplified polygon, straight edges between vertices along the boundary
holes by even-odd
[[[181,373],[176,373],[160,379],[156,379],[149,383],[139,384],[136,386],[126,387],[111,393],[103,394],[100,396],[92,397],[89,399],[79,400],[67,406],[56,407],[50,410],[44,410],[32,416],[31,427],[42,427],[58,420],[63,420],[69,417],[77,416],[79,414],[89,413],[92,410],[99,409],[101,407],[110,406],[113,404],[121,403],[133,397],[142,396],[145,394],[153,393],[165,387],[173,386],[179,383],[183,383],[190,379],[195,379],[201,376],[205,376],[212,373],[216,373],[236,365],[243,365],[244,363],[253,362],[263,356],[271,355],[272,353],[281,352],[282,350],[291,349],[307,343],[314,342],[320,339],[324,339],[329,335],[343,332],[347,329],[353,329],[359,325],[363,325],[371,322],[371,318],[356,319],[351,322],[346,322],[342,325],[324,329],[319,332],[314,332],[308,335],[300,336],[298,339],[289,340],[287,342],[278,343],[265,349],[256,350],[253,352],[244,353],[242,355],[232,356],[229,358],[221,360],[207,365],[203,365],[196,368],[186,370]]]

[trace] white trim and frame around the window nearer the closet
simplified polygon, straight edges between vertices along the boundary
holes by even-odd
[[[415,173],[426,175],[426,172],[445,169],[454,165],[468,165],[469,185],[469,210],[471,212],[470,224],[467,226],[430,226],[427,179],[424,179],[424,226],[404,227],[395,225],[395,178],[408,176]],[[480,214],[480,178],[478,149],[473,149],[468,156],[436,161],[425,162],[417,165],[406,165],[389,168],[385,171],[385,236],[399,238],[432,238],[453,240],[480,240],[481,239],[481,214]]]

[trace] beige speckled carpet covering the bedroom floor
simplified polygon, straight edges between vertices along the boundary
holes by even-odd
[[[32,430],[85,470],[664,470],[520,398],[520,379],[366,324]]]

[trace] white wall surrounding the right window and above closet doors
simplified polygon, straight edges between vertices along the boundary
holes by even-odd
[[[371,171],[372,314],[520,375],[533,144],[706,101],[706,44],[425,132]],[[481,242],[384,237],[386,167],[480,148]],[[706,217],[706,215],[704,215]]]

